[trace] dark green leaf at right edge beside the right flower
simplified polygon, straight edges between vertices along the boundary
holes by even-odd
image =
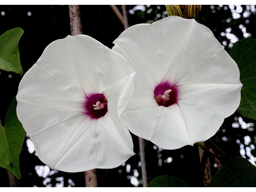
[[[256,39],[245,38],[236,42],[229,54],[238,65],[243,84],[238,112],[256,120]]]

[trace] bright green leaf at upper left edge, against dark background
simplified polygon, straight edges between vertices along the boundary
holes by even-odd
[[[0,69],[23,75],[20,64],[18,42],[23,34],[19,27],[6,31],[0,36]]]

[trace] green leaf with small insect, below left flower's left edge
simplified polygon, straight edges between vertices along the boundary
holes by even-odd
[[[25,130],[16,114],[17,101],[14,98],[6,112],[4,127],[0,126],[0,166],[20,179],[19,156],[25,137]]]

